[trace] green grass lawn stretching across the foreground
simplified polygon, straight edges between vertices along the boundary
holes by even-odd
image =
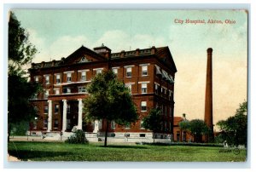
[[[148,146],[61,142],[10,142],[9,154],[31,161],[151,161],[151,162],[243,162],[246,150],[235,154],[231,148],[209,146]]]

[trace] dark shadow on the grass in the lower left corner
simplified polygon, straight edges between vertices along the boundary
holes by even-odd
[[[28,150],[19,150],[18,152],[15,150],[9,150],[9,154],[16,158],[27,161],[28,159],[33,158],[53,158],[60,156],[67,156],[70,152],[47,152],[47,151],[28,151]]]

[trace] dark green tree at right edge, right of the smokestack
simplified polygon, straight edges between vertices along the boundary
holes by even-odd
[[[247,101],[240,104],[235,116],[218,121],[217,125],[229,145],[247,146]]]

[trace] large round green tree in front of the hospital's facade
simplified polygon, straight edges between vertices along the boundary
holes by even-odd
[[[114,121],[125,125],[136,122],[136,106],[129,89],[110,70],[97,74],[86,89],[90,95],[83,100],[85,117],[106,121],[104,146],[107,146],[109,123]]]

